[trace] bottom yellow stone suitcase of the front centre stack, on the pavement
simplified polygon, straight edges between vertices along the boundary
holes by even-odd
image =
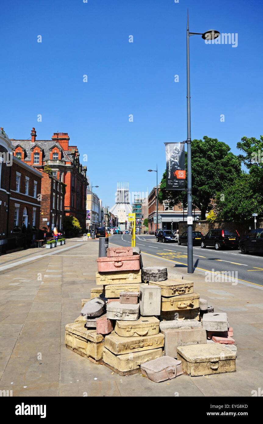
[[[108,349],[103,349],[103,362],[108,364],[120,375],[134,374],[140,371],[140,365],[144,362],[163,356],[163,349],[150,349],[142,352],[126,353],[123,355],[114,355]]]

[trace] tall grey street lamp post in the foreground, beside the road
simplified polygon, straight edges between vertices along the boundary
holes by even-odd
[[[219,36],[219,32],[208,30],[205,33],[189,32],[189,18],[187,11],[186,29],[186,73],[187,73],[187,272],[192,274],[193,269],[193,211],[192,211],[192,151],[191,151],[191,108],[190,108],[190,53],[189,37],[202,35],[204,40],[213,40]]]

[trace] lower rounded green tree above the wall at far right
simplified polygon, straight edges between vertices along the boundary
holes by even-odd
[[[255,192],[253,176],[243,173],[232,185],[224,189],[224,195],[216,195],[216,212],[222,220],[244,222],[252,213],[263,214],[262,195]]]

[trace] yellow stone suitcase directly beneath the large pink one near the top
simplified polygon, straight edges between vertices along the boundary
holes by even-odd
[[[141,270],[119,272],[96,272],[97,286],[108,284],[141,284]]]

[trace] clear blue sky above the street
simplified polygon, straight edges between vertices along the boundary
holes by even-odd
[[[104,205],[118,180],[150,191],[163,142],[186,139],[187,7],[190,31],[238,33],[235,48],[190,38],[192,138],[236,153],[263,134],[262,0],[2,0],[1,126],[10,138],[68,132]]]

